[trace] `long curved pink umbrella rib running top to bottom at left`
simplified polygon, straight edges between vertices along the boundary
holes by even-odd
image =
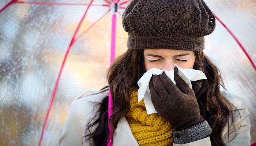
[[[91,4],[91,3],[93,3],[93,0],[91,0],[90,4]],[[90,7],[90,5],[89,5],[89,7]],[[80,28],[80,25],[82,24],[82,21],[83,21],[83,19],[85,18],[86,13],[87,13],[89,7],[87,7],[86,11],[84,12],[84,15],[83,15],[82,19],[80,20],[78,26],[76,27],[76,30],[75,30],[75,32],[74,32],[74,34],[73,34],[73,37],[72,37],[72,39],[71,39],[71,41],[70,41],[70,43],[69,43],[69,46],[68,46],[68,49],[67,49],[67,51],[66,51],[65,57],[64,57],[63,62],[62,62],[62,64],[61,64],[60,72],[59,72],[59,75],[58,75],[58,77],[57,77],[57,81],[56,81],[56,84],[55,84],[55,87],[54,87],[54,90],[53,90],[52,98],[51,98],[51,101],[50,101],[50,104],[49,104],[49,108],[48,108],[48,111],[47,111],[47,114],[46,114],[46,118],[45,118],[45,122],[44,122],[44,125],[43,125],[43,128],[42,128],[42,133],[41,133],[41,137],[40,137],[38,146],[41,146],[42,138],[43,138],[43,135],[44,135],[44,130],[45,130],[45,127],[46,127],[46,124],[47,124],[47,120],[48,120],[48,117],[49,117],[49,113],[50,113],[50,110],[51,110],[51,108],[52,108],[52,103],[53,103],[53,100],[54,100],[54,97],[55,97],[55,94],[56,94],[56,91],[57,91],[57,87],[58,87],[58,84],[59,84],[60,75],[61,75],[61,73],[62,73],[62,70],[63,70],[64,64],[65,64],[65,61],[66,61],[67,56],[68,56],[68,53],[69,53],[69,50],[70,50],[71,46],[74,44],[75,35],[76,35],[76,33],[78,32],[78,30],[79,30],[79,28]]]

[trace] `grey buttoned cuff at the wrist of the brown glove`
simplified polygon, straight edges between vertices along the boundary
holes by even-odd
[[[203,139],[210,135],[211,132],[212,129],[210,125],[206,120],[204,120],[203,122],[196,124],[195,126],[183,130],[174,130],[172,134],[174,143],[181,145]]]

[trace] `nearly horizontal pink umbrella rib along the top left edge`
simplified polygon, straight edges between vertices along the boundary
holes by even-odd
[[[72,4],[72,3],[51,3],[51,2],[37,2],[37,1],[17,1],[16,3],[26,4],[45,4],[45,5],[90,5],[90,6],[105,6],[109,7],[109,4]]]

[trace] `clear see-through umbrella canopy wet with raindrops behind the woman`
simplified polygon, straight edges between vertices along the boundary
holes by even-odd
[[[226,88],[247,101],[254,143],[256,1],[205,1],[226,26],[217,21],[205,53]],[[129,0],[116,2],[118,56],[127,50],[121,14]],[[108,0],[1,0],[0,146],[57,145],[71,102],[107,85],[114,9]]]

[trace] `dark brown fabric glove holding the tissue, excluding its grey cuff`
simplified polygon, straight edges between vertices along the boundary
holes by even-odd
[[[174,68],[174,81],[165,73],[153,75],[149,82],[151,101],[158,114],[169,121],[175,130],[194,126],[204,119],[195,92],[178,76],[178,68]]]

